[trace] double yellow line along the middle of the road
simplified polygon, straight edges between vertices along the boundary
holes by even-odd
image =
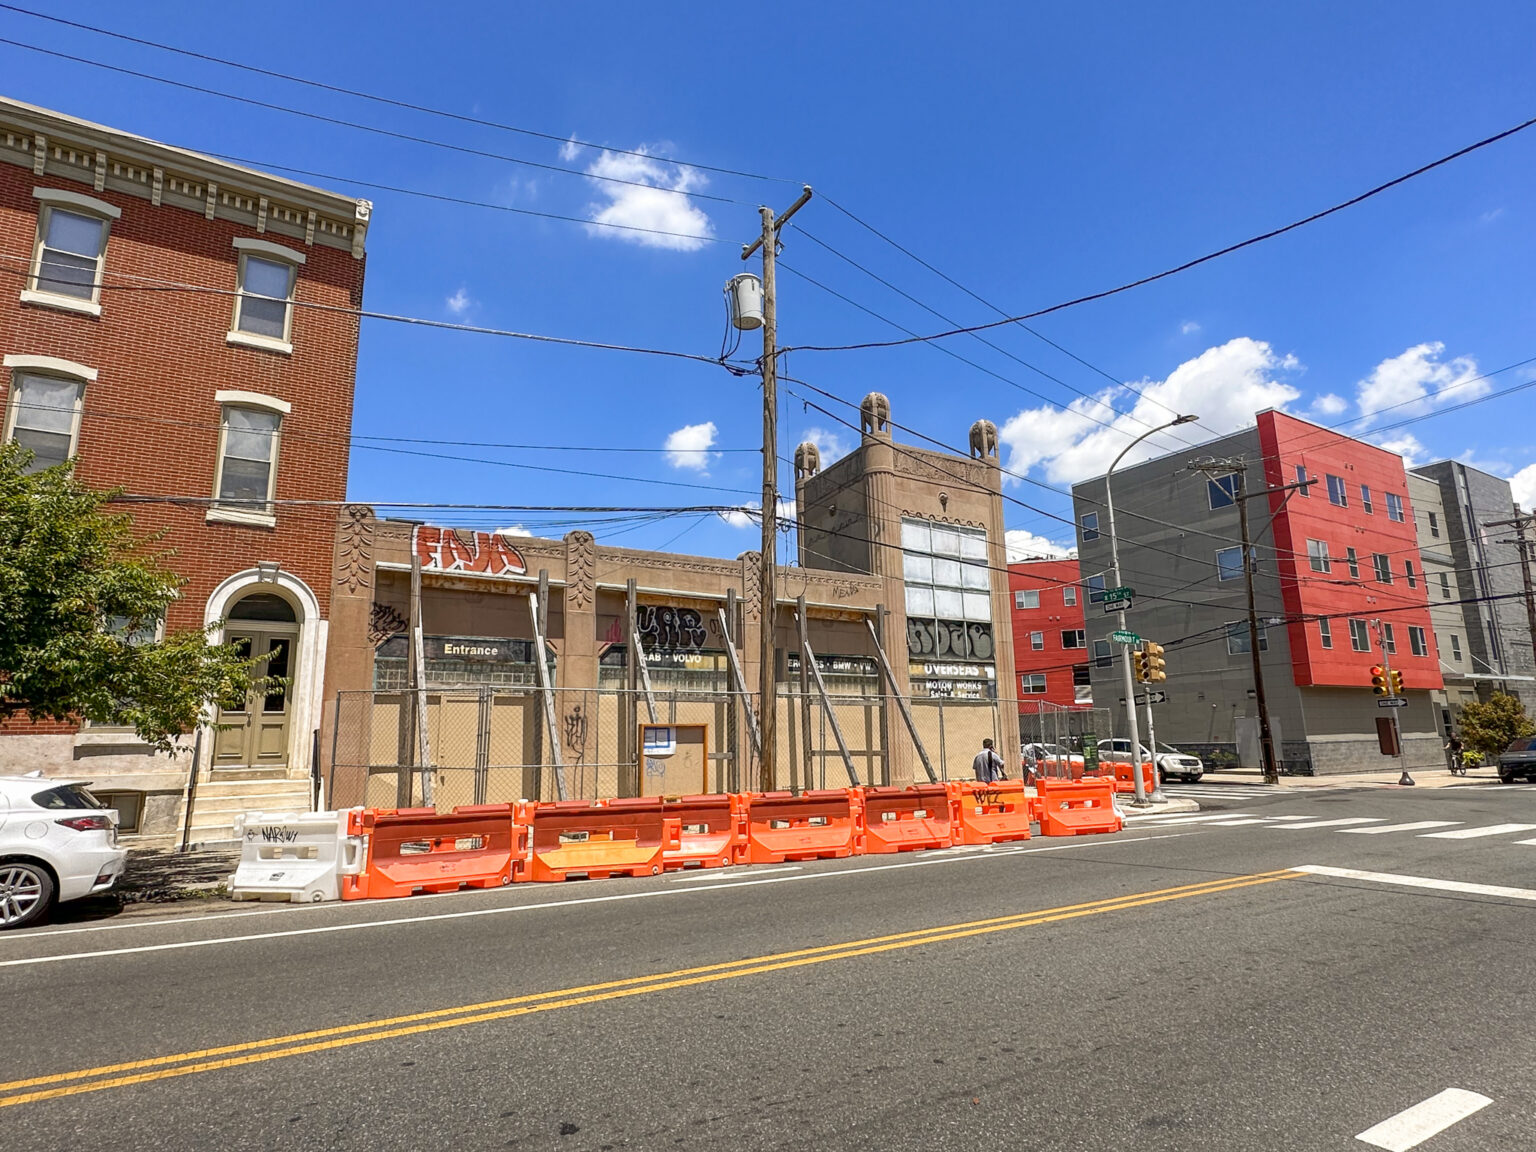
[[[743,975],[777,972],[786,968],[803,968],[806,965],[820,965],[829,960],[851,960],[860,955],[891,952],[899,948],[919,948],[922,945],[940,943],[943,940],[960,940],[971,935],[985,935],[988,932],[1008,932],[1017,928],[1034,928],[1035,925],[1048,925],[1058,920],[1075,920],[1084,915],[1120,912],[1129,908],[1143,908],[1146,905],[1166,903],[1169,900],[1186,900],[1192,895],[1215,895],[1217,892],[1230,892],[1236,888],[1252,888],[1253,885],[1273,883],[1275,880],[1286,880],[1295,876],[1299,876],[1299,872],[1289,868],[1273,872],[1253,872],[1223,880],[1207,880],[1198,885],[1181,885],[1178,888],[1161,888],[1150,892],[1134,892],[1130,895],[1121,895],[1111,900],[1094,900],[1081,905],[1046,908],[1035,912],[1017,912],[1014,915],[1000,915],[991,920],[968,920],[965,923],[923,928],[912,932],[895,932],[892,935],[877,935],[866,940],[846,940],[837,945],[800,948],[793,952],[774,952],[771,955],[748,957],[745,960],[728,960],[719,965],[680,968],[673,972],[657,972],[653,975],[630,977],[627,980],[610,980],[601,985],[561,988],[550,992],[508,997],[505,1000],[485,1000],[478,1005],[439,1008],[430,1012],[412,1012],[409,1015],[396,1015],[387,1020],[364,1020],[355,1025],[319,1028],[310,1032],[292,1032],[289,1035],[269,1037],[266,1040],[249,1040],[238,1044],[203,1048],[195,1052],[147,1057],[144,1060],[129,1060],[118,1064],[83,1068],[75,1072],[55,1072],[51,1075],[31,1077],[28,1080],[12,1080],[0,1084],[0,1107],[32,1104],[41,1100],[55,1100],[58,1097],[80,1095],[84,1092],[101,1092],[109,1087],[129,1087],[132,1084],[144,1084],[154,1080],[169,1080],[172,1077],[215,1072],[226,1068],[240,1068],[243,1064],[258,1064],[266,1060],[281,1060],[283,1057],[324,1052],[336,1048],[350,1048],[353,1044],[367,1044],[375,1040],[393,1040],[421,1032],[436,1032],[445,1028],[481,1025],[490,1020],[510,1020],[511,1017],[531,1015],[533,1012],[550,1012],[558,1008],[594,1005],[604,1000],[622,1000],[631,995],[665,992],[673,988],[708,985],[717,980],[734,980]]]

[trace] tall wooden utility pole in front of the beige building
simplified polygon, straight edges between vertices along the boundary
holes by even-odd
[[[757,717],[762,731],[762,751],[757,759],[757,779],[763,791],[773,791],[779,754],[777,696],[774,679],[774,624],[779,604],[779,324],[777,289],[774,284],[774,260],[779,255],[779,230],[790,217],[805,207],[811,198],[811,186],[805,184],[800,198],[780,217],[771,207],[759,207],[762,235],[742,246],[742,260],[753,252],[763,253],[763,541],[762,541],[762,601],[759,604],[759,665],[757,665]]]

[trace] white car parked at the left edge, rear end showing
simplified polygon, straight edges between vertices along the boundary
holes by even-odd
[[[35,925],[61,900],[123,874],[117,813],[83,780],[0,776],[0,929]]]

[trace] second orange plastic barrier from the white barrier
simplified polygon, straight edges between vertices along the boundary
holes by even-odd
[[[518,808],[533,840],[530,880],[605,880],[662,871],[665,822],[659,797],[554,800]]]

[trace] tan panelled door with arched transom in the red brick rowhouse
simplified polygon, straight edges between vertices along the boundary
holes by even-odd
[[[276,593],[252,591],[229,607],[224,642],[258,660],[255,676],[289,680],[269,691],[220,702],[214,731],[215,768],[286,768],[289,725],[293,720],[292,685],[298,680],[300,621],[293,605]]]

